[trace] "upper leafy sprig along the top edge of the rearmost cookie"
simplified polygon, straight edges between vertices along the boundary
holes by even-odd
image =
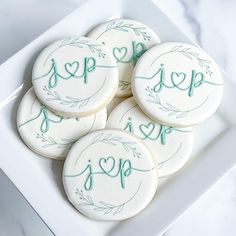
[[[150,41],[151,36],[146,32],[146,27],[137,27],[132,23],[125,23],[123,21],[112,21],[107,25],[105,31],[98,35],[96,39],[99,39],[103,34],[110,30],[118,30],[123,32],[128,32],[129,30],[133,31],[137,36],[142,37],[145,41]]]

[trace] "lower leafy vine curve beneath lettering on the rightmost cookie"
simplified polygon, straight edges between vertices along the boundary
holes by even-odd
[[[168,113],[169,116],[174,116],[176,119],[186,117],[190,112],[197,110],[199,107],[201,107],[208,100],[208,97],[207,97],[202,103],[200,103],[198,106],[194,107],[193,109],[181,110],[181,109],[171,105],[170,103],[166,103],[166,105],[163,105],[158,94],[155,93],[153,91],[153,89],[150,88],[149,86],[145,90],[147,91],[147,94],[150,97],[150,99],[147,100],[147,102],[155,103],[155,104],[159,105],[160,110]]]

